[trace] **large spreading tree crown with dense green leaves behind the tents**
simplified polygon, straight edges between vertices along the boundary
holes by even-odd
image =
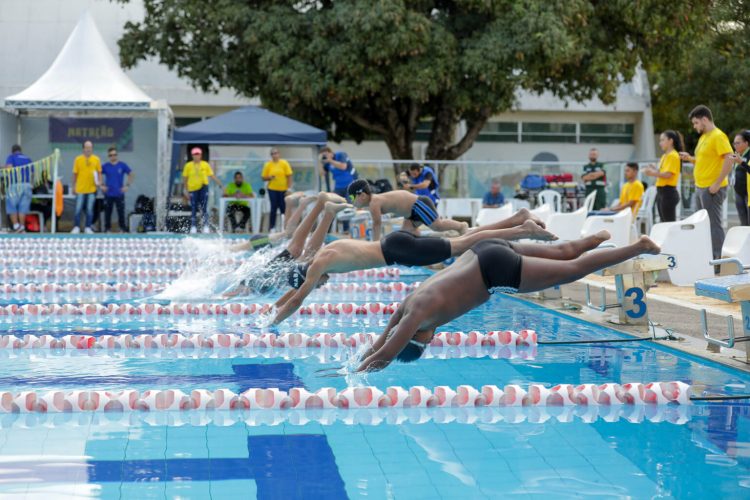
[[[413,157],[429,121],[427,157],[451,160],[521,89],[612,102],[640,61],[669,67],[709,4],[144,0],[119,46],[125,67],[155,57],[204,91],[258,96],[334,139],[378,134],[395,159]]]

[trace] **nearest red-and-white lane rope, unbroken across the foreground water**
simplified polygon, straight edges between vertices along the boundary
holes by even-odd
[[[60,413],[81,411],[175,411],[175,410],[310,410],[316,408],[450,408],[450,407],[512,407],[512,406],[623,406],[690,404],[690,386],[684,382],[652,382],[649,384],[570,384],[545,387],[531,384],[496,385],[476,388],[424,386],[404,388],[391,386],[384,391],[377,387],[348,387],[337,391],[324,387],[310,392],[292,388],[288,392],[275,388],[247,389],[235,393],[229,389],[135,389],[58,390],[0,392],[0,413]]]

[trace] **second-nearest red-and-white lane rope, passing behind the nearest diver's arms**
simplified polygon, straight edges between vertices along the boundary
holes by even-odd
[[[337,333],[142,333],[121,335],[82,335],[69,334],[62,337],[52,335],[0,335],[0,350],[97,350],[97,349],[137,349],[147,351],[190,352],[195,349],[205,351],[233,350],[347,350],[372,344],[379,334],[360,332],[352,335]],[[496,347],[536,347],[537,334],[533,330],[481,332],[437,332],[425,353],[440,357],[453,348],[470,355],[484,356],[483,352],[494,352]],[[482,349],[486,348],[486,349]],[[508,351],[507,356],[515,354]],[[461,357],[461,356],[459,356]]]

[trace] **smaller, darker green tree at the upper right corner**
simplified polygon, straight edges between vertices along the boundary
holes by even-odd
[[[685,132],[688,149],[698,134],[687,118],[690,110],[705,104],[717,125],[731,134],[750,128],[745,93],[750,82],[750,10],[744,0],[715,2],[704,27],[675,54],[676,64],[649,70],[657,131]]]

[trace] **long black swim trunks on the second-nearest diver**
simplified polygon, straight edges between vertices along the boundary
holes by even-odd
[[[385,263],[389,266],[431,266],[451,256],[451,244],[445,238],[414,236],[406,231],[395,231],[380,241]]]

